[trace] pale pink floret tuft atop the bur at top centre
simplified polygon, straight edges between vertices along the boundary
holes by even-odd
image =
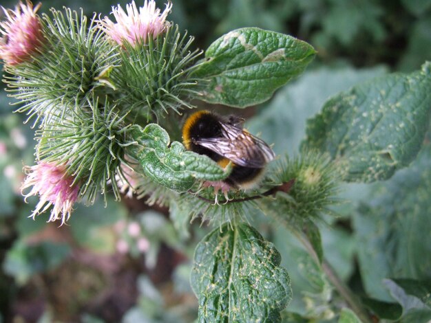
[[[99,27],[106,32],[118,45],[129,43],[135,46],[136,43],[143,41],[147,43],[147,38],[156,37],[165,32],[169,23],[166,22],[167,14],[171,11],[172,3],[166,5],[165,10],[160,14],[160,9],[156,8],[154,0],[145,0],[144,6],[139,10],[135,1],[126,5],[126,11],[118,5],[112,7],[112,14],[116,23],[112,22],[107,16],[99,22]]]

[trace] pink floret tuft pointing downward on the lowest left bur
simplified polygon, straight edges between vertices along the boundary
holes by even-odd
[[[30,216],[34,219],[34,216],[54,205],[48,221],[61,220],[61,225],[66,223],[79,193],[79,187],[73,183],[74,178],[66,173],[66,166],[40,161],[32,167],[25,167],[24,170],[27,178],[21,187],[21,193],[25,199],[32,195],[39,195],[40,198]],[[31,186],[30,192],[22,192]]]

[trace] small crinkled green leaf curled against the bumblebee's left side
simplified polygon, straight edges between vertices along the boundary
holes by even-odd
[[[231,170],[220,168],[205,155],[186,151],[180,142],[170,142],[168,133],[158,124],[148,124],[145,129],[133,126],[130,135],[138,144],[129,146],[129,152],[139,161],[145,175],[177,192],[189,190],[196,179],[225,179]]]

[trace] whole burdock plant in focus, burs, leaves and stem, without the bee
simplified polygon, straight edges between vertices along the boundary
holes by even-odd
[[[40,199],[31,216],[52,207],[48,221],[63,224],[75,203],[128,192],[167,205],[180,228],[202,217],[215,229],[198,244],[191,274],[199,322],[280,322],[292,297],[289,276],[248,216],[264,212],[299,237],[370,322],[326,263],[317,224],[331,214],[340,181],[388,179],[417,155],[431,105],[428,63],[331,98],[308,122],[298,157],[279,156],[253,189],[218,196],[207,183],[224,181],[235,165],[187,151],[182,114],[200,101],[244,108],[269,100],[304,71],[313,47],[246,27],[202,52],[167,21],[170,2],[161,11],[154,0],[132,1],[90,20],[67,8],[39,16],[39,7],[3,8],[0,23],[8,91],[38,127],[35,165],[23,183],[25,197]],[[388,127],[394,135],[382,136]]]

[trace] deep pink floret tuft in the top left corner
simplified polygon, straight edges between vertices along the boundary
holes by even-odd
[[[15,10],[3,9],[7,19],[0,22],[0,58],[6,64],[17,65],[28,60],[43,40],[42,26],[36,11],[41,3],[33,8],[19,3]]]

